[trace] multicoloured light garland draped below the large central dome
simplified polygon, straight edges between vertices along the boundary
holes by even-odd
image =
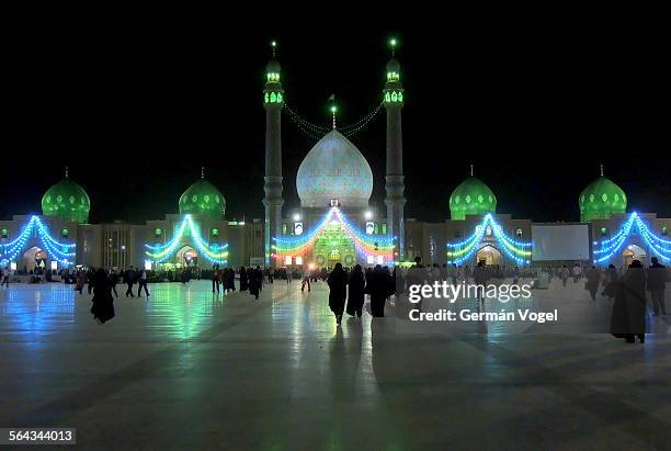
[[[338,207],[331,207],[323,219],[307,234],[298,237],[274,237],[275,244],[272,246],[274,259],[285,257],[303,256],[315,245],[315,241],[326,230],[329,224],[337,223],[342,226],[342,230],[354,241],[354,246],[360,256],[367,258],[383,257],[385,260],[394,258],[395,237],[384,237],[379,235],[371,236],[357,229]]]

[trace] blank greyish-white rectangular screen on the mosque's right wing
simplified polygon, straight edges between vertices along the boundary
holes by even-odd
[[[532,225],[533,260],[589,260],[587,224]]]

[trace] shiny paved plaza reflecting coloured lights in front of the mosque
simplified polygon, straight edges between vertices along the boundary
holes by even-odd
[[[104,326],[70,285],[3,289],[0,427],[75,427],[82,450],[671,447],[666,334],[400,334],[395,307],[337,328],[325,284],[299,289],[150,285]]]

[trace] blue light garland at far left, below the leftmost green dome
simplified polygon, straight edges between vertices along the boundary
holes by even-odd
[[[0,261],[15,261],[19,253],[24,249],[26,241],[32,236],[37,236],[42,247],[52,260],[56,260],[62,264],[70,264],[75,259],[77,244],[57,240],[39,217],[33,215],[27,223],[23,225],[16,238],[9,243],[0,244]]]

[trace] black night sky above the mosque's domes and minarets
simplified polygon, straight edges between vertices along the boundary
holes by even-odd
[[[332,92],[343,125],[380,100],[389,30],[177,30],[89,26],[16,38],[3,69],[10,117],[0,218],[38,212],[66,165],[91,196],[91,222],[177,212],[202,165],[229,219],[262,217],[261,91],[272,38],[287,100],[312,122],[329,123]],[[407,216],[448,218],[450,193],[470,162],[499,213],[577,221],[578,195],[603,162],[629,210],[671,216],[671,71],[657,36],[395,34],[406,88]],[[382,205],[384,115],[353,142]],[[288,207],[298,205],[295,174],[312,144],[284,116]]]

